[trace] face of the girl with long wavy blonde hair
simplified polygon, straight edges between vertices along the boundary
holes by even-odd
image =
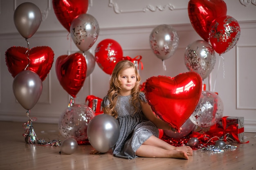
[[[120,94],[127,96],[131,94],[132,88],[135,87],[137,80],[134,68],[125,69],[120,75],[119,79],[121,81],[121,91]]]

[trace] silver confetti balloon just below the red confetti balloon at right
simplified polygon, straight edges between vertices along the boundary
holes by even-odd
[[[216,62],[212,46],[204,41],[197,40],[186,47],[184,63],[189,71],[200,74],[202,79],[209,76]]]

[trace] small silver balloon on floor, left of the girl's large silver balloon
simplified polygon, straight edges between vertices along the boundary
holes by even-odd
[[[77,141],[74,138],[65,139],[61,143],[61,152],[65,154],[72,154],[78,147]]]

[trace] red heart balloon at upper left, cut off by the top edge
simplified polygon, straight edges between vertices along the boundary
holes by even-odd
[[[70,32],[74,18],[87,12],[88,0],[52,0],[52,6],[59,22]]]

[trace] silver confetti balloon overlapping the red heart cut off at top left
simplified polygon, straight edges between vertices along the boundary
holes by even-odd
[[[81,51],[87,51],[98,38],[98,21],[88,13],[82,13],[71,22],[70,34],[77,48]]]

